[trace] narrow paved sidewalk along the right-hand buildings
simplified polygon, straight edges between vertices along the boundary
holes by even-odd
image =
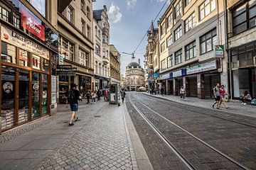
[[[156,97],[156,98],[162,98],[169,101],[175,101],[178,103],[198,106],[201,108],[215,109],[215,108],[212,108],[214,99],[199,99],[196,97],[186,97],[185,100],[183,100],[180,98],[180,96],[174,96],[174,95],[163,95],[163,96],[161,96],[161,94],[151,95],[146,92],[143,92],[143,94]],[[256,118],[256,106],[252,106],[252,105],[243,106],[241,105],[240,101],[230,101],[230,102],[226,102],[226,104],[229,108],[224,108],[224,106],[222,105],[222,111]]]

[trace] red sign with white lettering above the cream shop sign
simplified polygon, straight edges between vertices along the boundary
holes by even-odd
[[[37,20],[39,19],[37,18]],[[46,41],[45,28],[37,20],[25,8],[21,8],[21,26],[36,35],[36,37]]]

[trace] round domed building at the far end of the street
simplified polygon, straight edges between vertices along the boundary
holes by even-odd
[[[125,70],[124,87],[127,91],[138,91],[145,86],[144,69],[137,62],[130,62]]]

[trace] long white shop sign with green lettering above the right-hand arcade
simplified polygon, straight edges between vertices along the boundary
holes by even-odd
[[[206,72],[208,70],[212,70],[212,69],[216,69],[216,62],[215,60],[210,61],[210,62],[206,62],[203,64],[198,64],[196,66],[193,67],[188,67],[186,69],[186,74],[195,74],[198,72]]]

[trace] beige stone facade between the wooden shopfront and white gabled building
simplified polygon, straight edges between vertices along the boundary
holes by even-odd
[[[91,0],[71,1],[58,12],[58,76],[60,95],[78,84],[80,91],[90,91],[94,81],[93,10]],[[61,96],[60,96],[61,99]],[[60,100],[62,101],[62,100]]]

